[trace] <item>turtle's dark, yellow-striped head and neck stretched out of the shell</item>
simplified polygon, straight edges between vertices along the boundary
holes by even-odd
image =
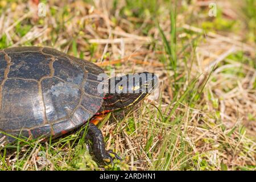
[[[108,93],[99,110],[113,111],[125,109],[137,104],[152,93],[158,85],[158,77],[154,73],[135,73],[109,79]]]

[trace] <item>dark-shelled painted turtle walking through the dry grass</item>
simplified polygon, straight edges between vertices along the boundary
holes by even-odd
[[[99,92],[98,76],[104,71],[89,61],[47,47],[14,47],[0,51],[0,138],[58,137],[88,125],[86,137],[98,161],[111,161],[104,138],[96,127],[104,114],[141,101],[142,88],[155,85],[154,74],[134,81],[128,90],[137,93]],[[139,75],[142,73],[139,73]],[[118,78],[118,79],[117,79]],[[108,81],[131,81],[128,75]],[[129,80],[130,79],[130,80]],[[118,85],[119,90],[123,87]],[[120,89],[122,88],[122,89]],[[110,86],[108,87],[110,90]],[[89,122],[88,122],[89,121]],[[114,153],[113,153],[114,154]],[[115,155],[115,154],[114,154]],[[117,158],[118,156],[115,155]]]

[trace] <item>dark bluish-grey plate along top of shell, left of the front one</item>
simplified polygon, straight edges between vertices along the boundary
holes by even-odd
[[[50,74],[49,62],[51,56],[43,55],[40,52],[9,53],[11,58],[9,78],[25,78],[40,80]]]

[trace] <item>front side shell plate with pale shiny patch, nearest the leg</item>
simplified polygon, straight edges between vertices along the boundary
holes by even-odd
[[[55,77],[44,79],[42,90],[49,122],[68,117],[79,105],[81,90]]]

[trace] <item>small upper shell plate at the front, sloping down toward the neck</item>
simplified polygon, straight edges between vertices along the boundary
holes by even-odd
[[[53,63],[54,76],[72,84],[81,85],[84,71],[77,63],[72,63],[67,58],[58,58]]]

